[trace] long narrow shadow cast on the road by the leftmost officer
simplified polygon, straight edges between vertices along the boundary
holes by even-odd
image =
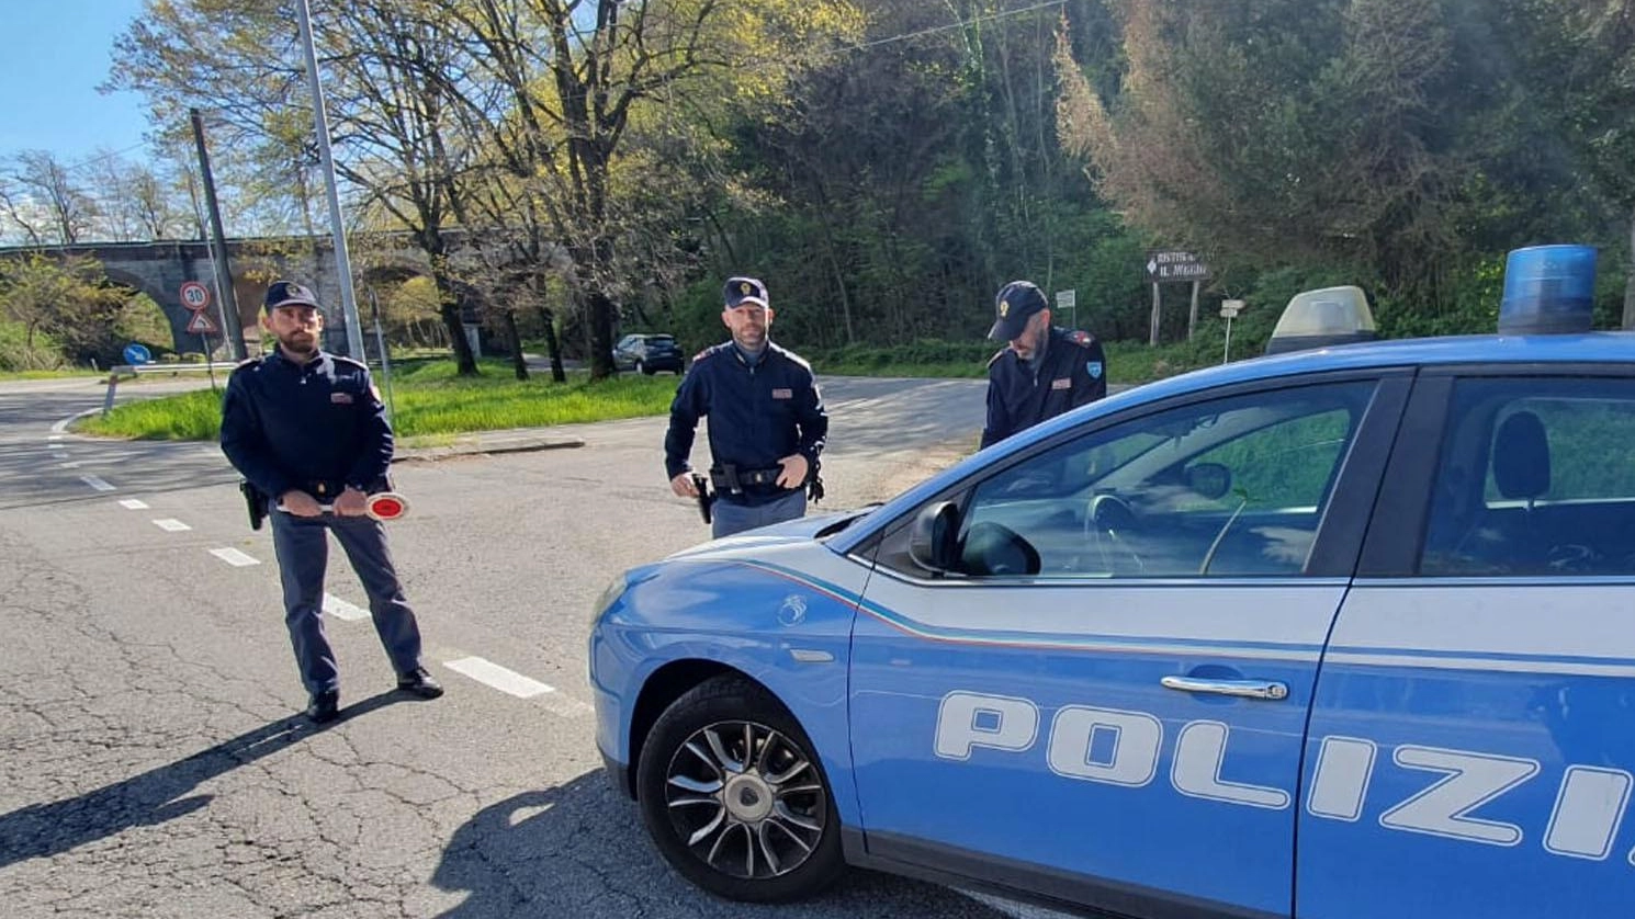
[[[342,708],[342,720],[405,702],[386,692]],[[52,857],[87,842],[137,826],[155,826],[209,805],[209,795],[188,795],[199,783],[288,749],[324,728],[293,715],[222,741],[188,759],[162,765],[77,798],[29,805],[0,816],[0,868],[28,858]]]

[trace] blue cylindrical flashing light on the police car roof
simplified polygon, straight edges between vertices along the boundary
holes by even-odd
[[[1596,307],[1592,245],[1530,245],[1504,262],[1499,335],[1589,332]]]

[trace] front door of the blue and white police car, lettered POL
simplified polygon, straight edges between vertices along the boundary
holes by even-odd
[[[1306,708],[1406,376],[1100,419],[888,531],[853,631],[871,858],[1287,916]],[[945,571],[919,520],[956,515]]]

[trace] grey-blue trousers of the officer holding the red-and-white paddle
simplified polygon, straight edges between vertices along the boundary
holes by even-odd
[[[273,510],[268,517],[273,522],[278,574],[284,585],[284,625],[307,692],[327,692],[340,685],[335,652],[324,636],[322,618],[327,533],[335,533],[335,541],[363,582],[374,631],[381,636],[392,669],[397,674],[414,672],[420,666],[420,626],[404,600],[402,584],[386,546],[386,528],[368,517],[294,517],[283,510]]]

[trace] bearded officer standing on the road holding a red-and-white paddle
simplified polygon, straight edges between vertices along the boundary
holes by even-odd
[[[397,688],[420,698],[443,687],[420,666],[420,628],[392,567],[386,530],[366,515],[366,495],[386,491],[392,428],[370,368],[319,348],[324,314],[311,289],[276,281],[262,327],[278,340],[239,365],[222,399],[221,448],[265,495],[284,592],[284,625],[307,718],[334,721],[340,706],[335,652],[324,636],[329,533],[370,597],[374,631],[397,670]]]

